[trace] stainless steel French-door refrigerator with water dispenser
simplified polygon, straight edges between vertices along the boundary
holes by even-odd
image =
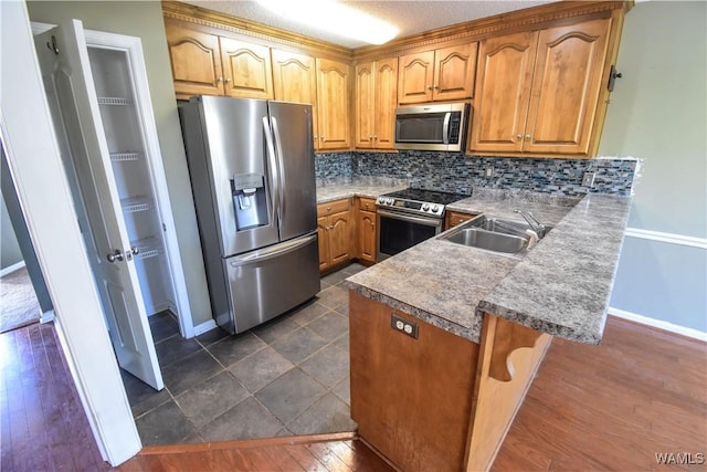
[[[242,333],[319,292],[312,106],[180,106],[213,316]]]

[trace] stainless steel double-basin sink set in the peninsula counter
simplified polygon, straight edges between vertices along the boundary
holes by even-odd
[[[546,233],[551,227],[546,227]],[[538,235],[525,221],[479,216],[440,237],[457,244],[504,254],[523,255],[538,242]]]

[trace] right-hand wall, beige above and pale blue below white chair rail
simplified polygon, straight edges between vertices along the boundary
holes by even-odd
[[[600,155],[643,159],[611,306],[707,332],[707,3],[625,19]]]

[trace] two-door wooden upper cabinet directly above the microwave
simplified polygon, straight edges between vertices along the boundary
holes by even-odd
[[[400,56],[398,102],[471,98],[477,50],[478,43],[473,42]]]

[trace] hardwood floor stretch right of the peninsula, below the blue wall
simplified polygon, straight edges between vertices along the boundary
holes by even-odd
[[[695,463],[658,464],[656,453]],[[704,461],[707,344],[610,316],[600,346],[552,340],[493,470],[705,470]]]

